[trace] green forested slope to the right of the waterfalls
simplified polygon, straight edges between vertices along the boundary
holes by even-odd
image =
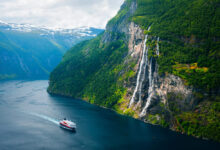
[[[149,34],[161,39],[160,56],[155,57],[160,75],[181,77],[196,88],[194,95],[202,101],[188,112],[175,103],[169,106],[175,130],[220,141],[220,1],[137,2],[132,20],[145,30],[151,25]]]

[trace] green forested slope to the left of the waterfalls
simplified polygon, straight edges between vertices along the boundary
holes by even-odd
[[[49,91],[106,107],[117,103],[121,91],[115,92],[123,89],[116,83],[127,46],[121,40],[102,44],[101,37],[82,42],[65,54],[50,76]]]

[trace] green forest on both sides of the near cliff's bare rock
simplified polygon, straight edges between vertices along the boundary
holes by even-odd
[[[137,10],[127,22],[134,21],[151,37],[160,37],[160,55],[155,57],[160,76],[167,73],[179,76],[196,89],[194,95],[202,101],[188,112],[179,111],[175,103],[169,106],[175,130],[220,141],[219,0],[127,0],[104,34],[78,44],[65,54],[50,75],[48,91],[118,111],[118,103],[127,92],[124,81],[129,82],[136,74],[133,70],[137,62],[125,61],[130,57],[128,41],[118,30],[132,1],[137,2]],[[149,26],[151,30],[147,32]],[[103,42],[106,35],[114,38]],[[149,51],[149,57],[154,56]],[[172,98],[168,97],[168,101]],[[129,111],[123,113],[133,115]]]

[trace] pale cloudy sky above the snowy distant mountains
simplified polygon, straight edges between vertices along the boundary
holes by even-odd
[[[0,0],[0,20],[50,28],[104,28],[124,0]]]

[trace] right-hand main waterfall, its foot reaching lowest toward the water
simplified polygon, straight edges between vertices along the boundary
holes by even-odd
[[[154,77],[153,77],[153,68],[152,68],[152,63],[153,58],[150,59],[150,64],[148,65],[148,80],[149,80],[149,87],[148,87],[148,97],[147,97],[147,102],[140,114],[141,117],[143,117],[146,114],[147,108],[151,103],[153,92],[154,92]]]

